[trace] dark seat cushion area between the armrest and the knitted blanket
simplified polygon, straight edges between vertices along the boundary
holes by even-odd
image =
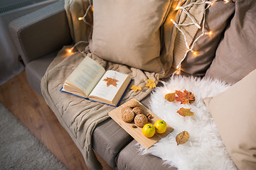
[[[46,73],[46,69],[50,62],[56,57],[58,52],[53,52],[49,55],[37,58],[26,64],[26,75],[28,79],[28,84],[42,96],[41,93],[41,79]]]

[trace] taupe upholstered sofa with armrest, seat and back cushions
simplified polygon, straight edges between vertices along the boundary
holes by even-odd
[[[233,84],[252,72],[256,68],[255,11],[255,1],[230,1],[228,4],[220,1],[215,7],[209,8],[206,13],[206,19],[208,19],[206,28],[214,30],[213,37],[198,40],[194,46],[195,50],[203,50],[198,52],[197,57],[188,53],[181,64],[183,74],[198,77],[206,75]],[[166,23],[166,25],[168,24]],[[164,23],[161,23],[161,29],[164,30]],[[42,95],[41,79],[46,73],[46,69],[53,62],[58,51],[64,45],[72,45],[75,40],[74,36],[70,35],[64,2],[58,1],[46,8],[16,19],[11,23],[10,30],[26,65],[28,82],[38,94]],[[97,31],[100,32],[100,30]],[[97,31],[95,30],[95,33]],[[174,30],[170,29],[169,31]],[[176,38],[174,39],[171,39],[171,33],[169,34],[170,39],[164,41],[170,40],[182,46],[182,42],[178,42],[183,36],[181,33],[176,30]],[[195,36],[199,34],[198,30],[194,31]],[[165,35],[167,35],[166,32]],[[166,45],[166,43],[164,44]],[[163,44],[161,43],[161,45]],[[171,45],[169,46],[171,47]],[[175,45],[172,47],[174,49],[171,51],[171,57],[173,57],[171,62],[176,67],[178,61],[183,57],[183,53],[182,49],[178,50]],[[97,51],[97,44],[90,44],[90,49]],[[162,53],[170,52],[163,49],[164,47],[161,47],[159,50]],[[105,60],[109,60],[109,58],[105,58]],[[117,60],[115,58],[112,62]],[[137,67],[136,64],[135,62],[132,67]],[[154,70],[150,70],[151,68],[152,66],[147,69],[149,72],[154,72]],[[154,69],[156,72],[161,72],[157,68]],[[168,71],[169,74],[165,73],[165,76],[170,75],[171,71]],[[149,98],[150,96],[147,96],[142,100],[145,106],[148,106]],[[58,118],[59,120],[63,119]],[[64,128],[68,129],[68,127]],[[72,133],[70,135],[72,136]],[[75,143],[78,145],[77,142]],[[111,118],[97,124],[92,132],[92,148],[113,168],[176,169],[164,164],[164,161],[159,157],[138,154],[135,143],[136,141]],[[80,147],[79,149],[81,152],[86,152],[82,151]]]

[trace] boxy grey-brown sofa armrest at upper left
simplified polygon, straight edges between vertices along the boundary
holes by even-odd
[[[25,64],[73,42],[63,0],[17,18],[9,29]]]

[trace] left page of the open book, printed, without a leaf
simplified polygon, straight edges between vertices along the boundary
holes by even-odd
[[[100,64],[92,60],[90,57],[85,57],[66,81],[75,85],[78,89],[89,96],[90,92],[96,86],[104,73],[105,69]]]

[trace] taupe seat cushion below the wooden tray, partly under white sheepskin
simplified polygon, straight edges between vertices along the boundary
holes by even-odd
[[[164,160],[151,154],[140,155],[139,147],[136,146],[137,141],[133,140],[119,153],[116,162],[117,168],[122,170],[155,170],[165,169],[174,170],[168,164],[164,164]],[[175,153],[174,153],[175,154]]]

